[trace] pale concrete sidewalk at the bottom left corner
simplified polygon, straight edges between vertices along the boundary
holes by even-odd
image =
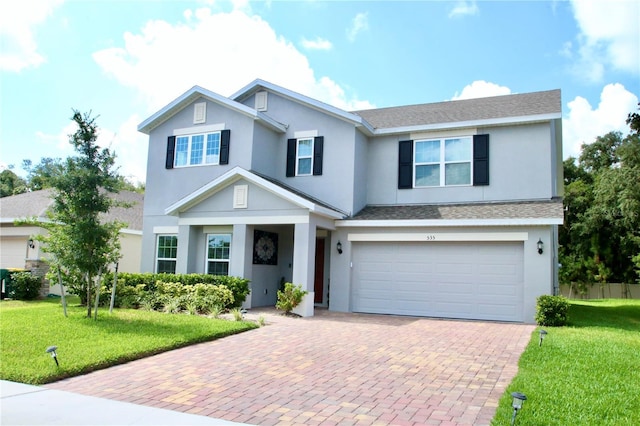
[[[0,424],[242,425],[211,417],[0,381]]]

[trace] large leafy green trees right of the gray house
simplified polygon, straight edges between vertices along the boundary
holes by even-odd
[[[563,282],[633,283],[640,261],[640,136],[610,132],[564,163]]]

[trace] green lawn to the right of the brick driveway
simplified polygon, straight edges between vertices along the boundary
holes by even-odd
[[[545,327],[519,361],[493,419],[510,424],[511,392],[527,396],[516,425],[640,424],[640,300],[571,301],[569,325]]]

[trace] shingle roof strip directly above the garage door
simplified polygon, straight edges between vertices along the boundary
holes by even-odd
[[[350,220],[463,220],[563,218],[562,200],[366,206]]]

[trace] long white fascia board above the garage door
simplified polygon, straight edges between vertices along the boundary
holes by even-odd
[[[479,226],[546,226],[562,225],[563,218],[526,219],[425,219],[425,220],[337,220],[336,227],[342,228],[406,228],[406,227],[479,227]]]

